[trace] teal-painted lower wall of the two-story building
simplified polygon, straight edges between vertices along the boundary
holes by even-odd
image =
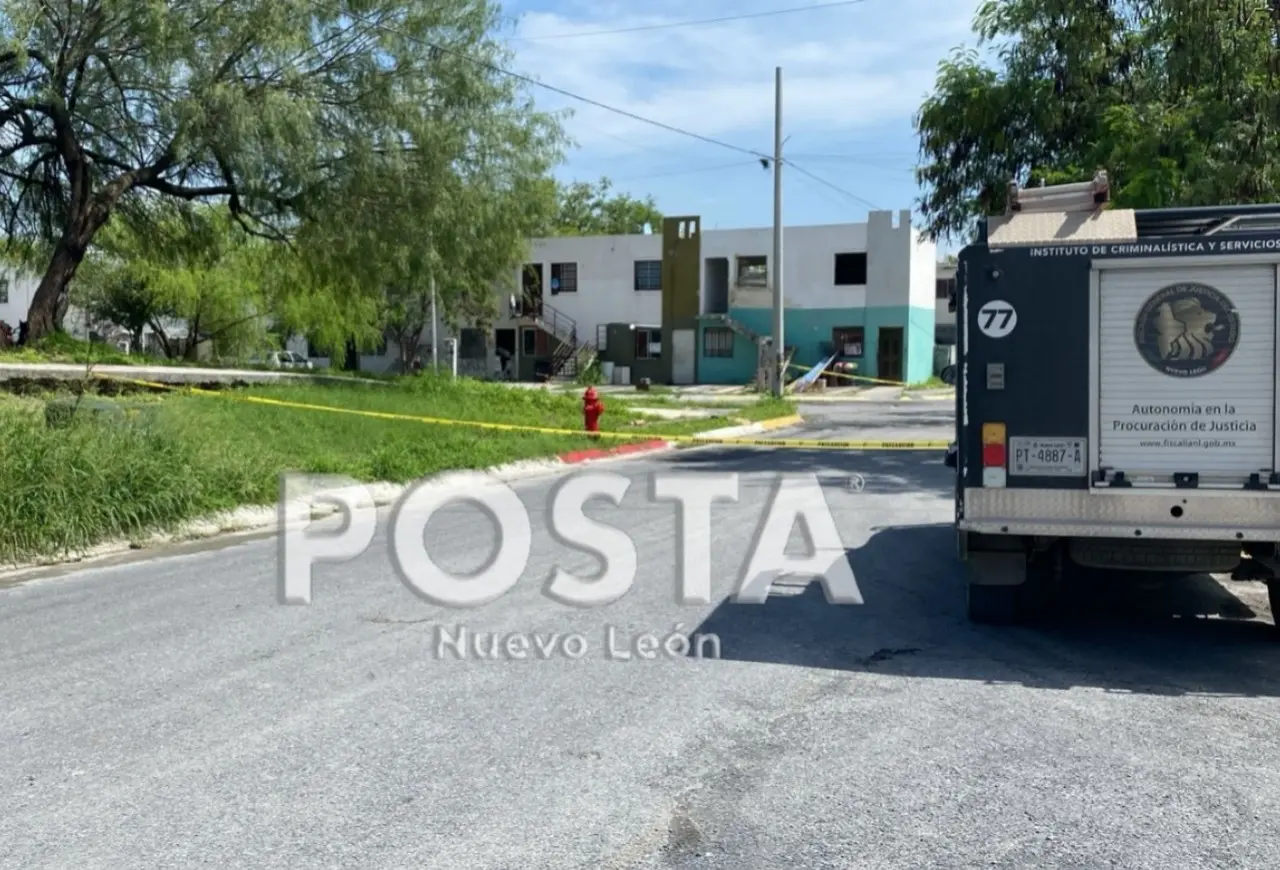
[[[773,331],[772,308],[731,308],[728,316],[748,329],[768,335]],[[831,342],[836,326],[861,326],[865,333],[858,374],[876,377],[877,338],[881,326],[904,328],[905,372],[909,383],[927,380],[933,374],[933,308],[883,306],[874,308],[788,308],[783,321],[786,344],[795,347],[795,362],[815,366],[822,362],[822,345]],[[707,321],[698,329],[698,381],[700,384],[745,384],[755,377],[755,344],[733,334],[732,357],[708,357],[704,349]]]

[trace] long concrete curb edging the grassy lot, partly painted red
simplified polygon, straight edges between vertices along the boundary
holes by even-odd
[[[751,423],[749,426],[731,426],[727,429],[716,429],[708,432],[699,432],[701,438],[740,438],[742,435],[753,435],[758,432],[771,431],[773,429],[781,429],[783,426],[794,426],[803,422],[799,416],[792,417],[776,417],[773,420],[764,420],[758,423]],[[637,444],[620,444],[614,448],[599,448],[589,450],[571,450],[570,453],[562,453],[556,457],[547,459],[526,459],[524,462],[511,462],[502,466],[494,466],[492,468],[485,468],[481,471],[443,471],[431,477],[425,477],[413,484],[388,484],[388,482],[371,482],[364,484],[364,494],[356,500],[357,507],[387,507],[394,504],[411,486],[433,486],[433,487],[448,487],[448,489],[474,489],[477,484],[489,484],[494,481],[500,482],[515,482],[518,480],[530,480],[535,477],[550,477],[558,473],[564,473],[571,471],[573,466],[584,463],[595,462],[618,462],[623,459],[631,459],[639,454],[658,453],[662,450],[672,450],[677,447],[701,447],[699,444],[675,444],[664,440],[650,440],[640,441]],[[708,445],[710,447],[710,445]],[[346,487],[349,489],[349,487]],[[325,491],[334,493],[338,490],[324,490],[316,489],[311,491],[310,495],[303,495],[298,499],[303,512],[310,507],[311,519],[323,519],[324,517],[338,513],[338,508],[334,504],[315,504],[314,499]],[[87,550],[79,553],[70,553],[61,557],[47,557],[42,559],[36,559],[32,562],[24,562],[19,564],[9,564],[0,568],[0,589],[5,586],[13,586],[33,572],[38,572],[42,568],[56,568],[59,566],[68,564],[86,564],[91,566],[95,562],[100,562],[109,557],[116,557],[137,550],[151,550],[157,548],[164,548],[166,545],[186,544],[189,541],[202,541],[216,537],[232,537],[232,536],[244,536],[255,532],[264,532],[270,528],[276,528],[280,522],[280,510],[278,505],[246,505],[237,508],[234,510],[228,510],[225,513],[214,514],[211,517],[202,517],[198,519],[188,521],[180,525],[177,530],[172,532],[155,532],[150,535],[146,540],[131,541],[131,540],[114,540],[104,541]]]

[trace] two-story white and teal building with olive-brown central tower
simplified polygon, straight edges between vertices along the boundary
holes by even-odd
[[[660,234],[535,239],[499,290],[489,368],[518,380],[562,376],[598,353],[630,380],[753,380],[773,331],[773,232],[703,232],[700,223],[668,217]],[[934,270],[934,244],[909,211],[786,228],[785,347],[803,366],[836,356],[869,377],[925,380]]]

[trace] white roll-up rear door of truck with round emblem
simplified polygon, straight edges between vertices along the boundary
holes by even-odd
[[[1239,490],[1280,464],[1277,267],[1201,264],[1097,262],[1094,486]]]

